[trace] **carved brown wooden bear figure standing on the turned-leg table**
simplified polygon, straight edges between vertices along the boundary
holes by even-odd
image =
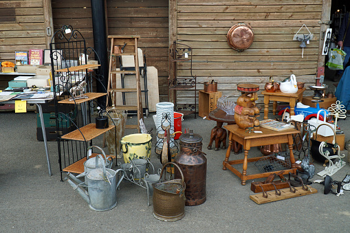
[[[258,99],[257,93],[242,93],[237,99],[237,106],[234,108],[234,120],[241,129],[259,129],[259,120],[256,119],[260,115],[259,109],[256,107],[255,100]]]

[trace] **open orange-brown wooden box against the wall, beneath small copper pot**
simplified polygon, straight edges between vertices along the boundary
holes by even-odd
[[[199,113],[198,115],[201,118],[206,117],[207,120],[210,111],[217,108],[217,100],[221,97],[221,91],[216,92],[205,92],[203,90],[199,90]]]

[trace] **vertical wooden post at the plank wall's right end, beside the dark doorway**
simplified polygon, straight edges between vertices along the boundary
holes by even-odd
[[[323,0],[322,4],[322,15],[321,15],[321,21],[329,21],[331,17],[331,0]],[[328,24],[322,23],[320,25],[320,41],[318,44],[318,60],[317,60],[317,67],[324,67],[325,66],[325,56],[322,56],[322,47],[323,47],[323,41],[325,39],[325,32],[329,28]]]

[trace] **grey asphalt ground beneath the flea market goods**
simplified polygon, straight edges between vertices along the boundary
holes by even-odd
[[[262,114],[263,115],[263,114]],[[272,113],[269,118],[274,118]],[[129,118],[134,121],[135,118]],[[151,115],[145,118],[147,129],[155,125]],[[182,129],[193,129],[203,137],[203,151],[208,159],[206,195],[200,206],[186,206],[183,219],[164,222],[153,217],[147,206],[146,189],[122,181],[117,190],[117,206],[112,210],[90,210],[67,181],[61,181],[57,142],[48,142],[53,175],[47,172],[43,142],[36,140],[36,113],[0,113],[0,232],[348,232],[350,228],[350,191],[344,195],[324,195],[324,186],[312,184],[318,193],[258,205],[250,200],[250,183],[230,170],[222,169],[226,150],[208,150],[210,130],[215,122],[185,116]],[[349,119],[339,125],[350,139]],[[135,131],[127,131],[135,133]],[[151,162],[160,168],[154,152]],[[102,146],[102,137],[94,140]],[[104,148],[107,150],[107,148]],[[347,151],[343,151],[347,155]],[[249,157],[260,156],[252,148]],[[231,154],[230,159],[243,158]],[[120,161],[120,159],[119,159]],[[347,159],[345,159],[347,161]],[[323,169],[315,162],[316,173]],[[116,169],[115,167],[113,167]],[[241,169],[239,166],[237,167]],[[341,181],[350,173],[347,164],[333,179]],[[254,163],[248,174],[256,173]],[[322,179],[315,175],[314,179]],[[255,181],[263,181],[256,179]]]

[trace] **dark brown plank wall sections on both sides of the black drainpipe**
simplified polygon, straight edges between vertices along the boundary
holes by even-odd
[[[158,69],[160,96],[167,99],[168,78],[168,0],[107,0],[109,35],[139,35],[139,47],[146,64]],[[55,30],[72,25],[94,47],[91,3],[89,0],[52,0]]]

